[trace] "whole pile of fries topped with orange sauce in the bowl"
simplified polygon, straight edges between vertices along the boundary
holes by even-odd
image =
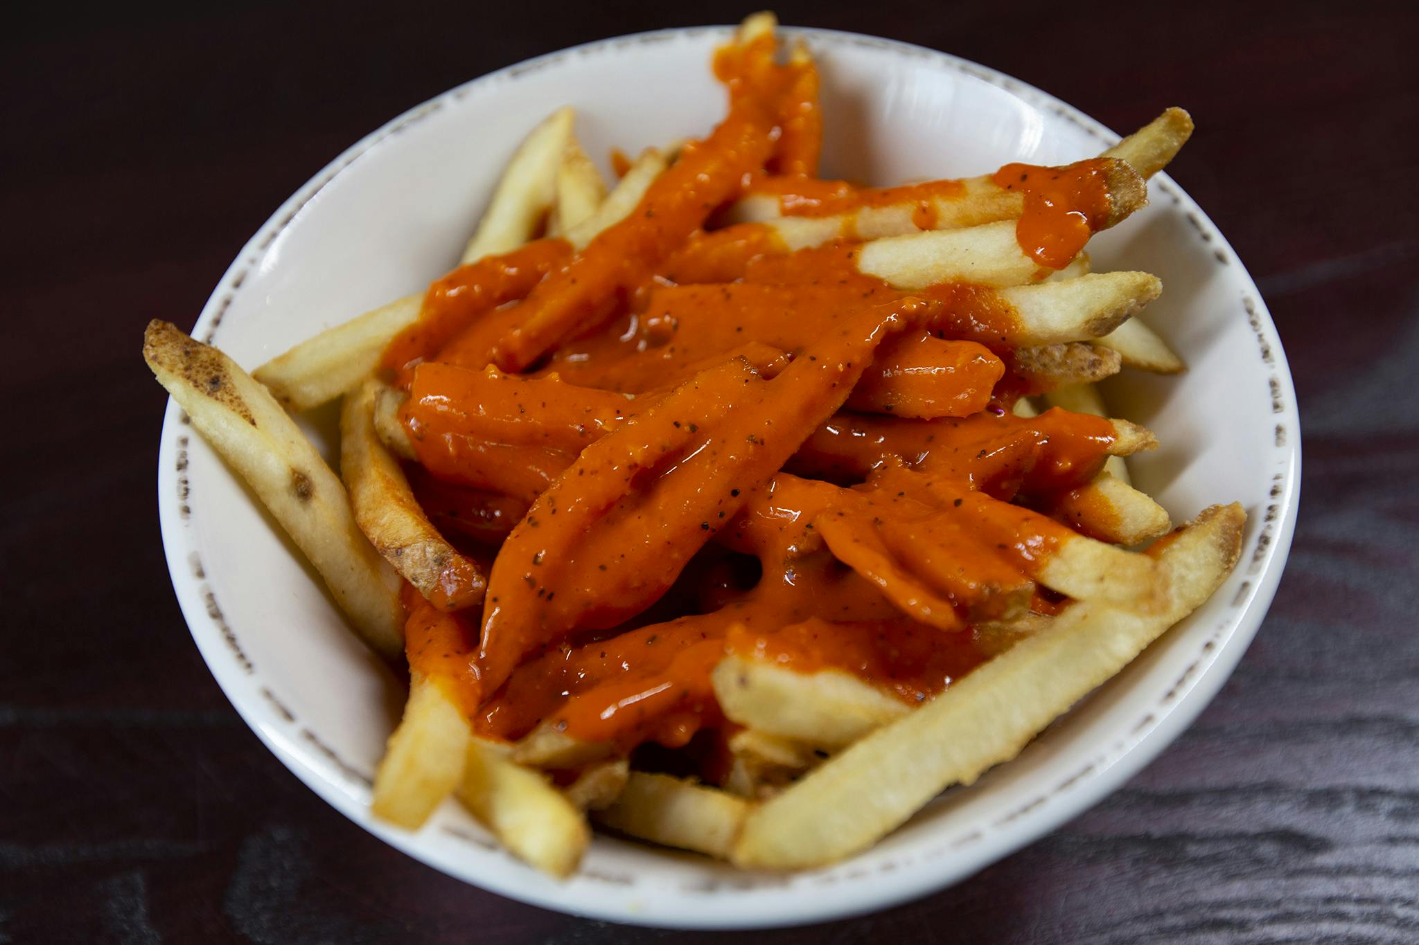
[[[570,109],[538,125],[427,295],[250,375],[148,327],[193,426],[407,660],[392,823],[454,795],[553,876],[589,819],[832,863],[1013,758],[1236,561],[1242,509],[1174,528],[1124,460],[1154,436],[1095,388],[1183,370],[1131,317],[1159,281],[1081,248],[1186,112],[1069,167],[822,181],[816,65],[775,30],[718,54],[712,135],[612,188]],[[339,476],[288,414],[336,398]]]

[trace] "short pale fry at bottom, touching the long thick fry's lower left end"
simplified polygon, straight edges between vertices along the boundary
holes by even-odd
[[[748,810],[724,791],[633,771],[616,803],[593,816],[633,837],[725,859]]]

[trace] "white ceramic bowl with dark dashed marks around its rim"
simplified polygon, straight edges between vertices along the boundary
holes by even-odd
[[[1022,82],[901,43],[829,31],[824,174],[895,183],[1063,163],[1117,140]],[[253,368],[448,269],[521,137],[570,103],[593,156],[705,133],[724,112],[710,57],[728,28],[650,33],[545,55],[475,79],[350,147],[251,238],[197,320]],[[1156,111],[1172,102],[1156,102]],[[1137,116],[1138,122],[1152,115]],[[1206,116],[1200,116],[1206,122]],[[1236,572],[1122,674],[1017,759],[949,791],[867,853],[793,876],[599,836],[558,883],[515,861],[457,805],[417,833],[370,817],[370,775],[404,683],[345,629],[319,581],[169,404],[158,494],[167,565],[203,657],[272,752],[350,820],[451,876],[546,908],[683,928],[815,922],[877,910],[971,876],[1097,803],[1213,697],[1261,623],[1296,520],[1300,429],[1276,329],[1232,248],[1166,174],[1152,205],[1090,247],[1097,269],[1165,286],[1148,323],[1181,377],[1125,373],[1107,394],[1162,448],[1135,479],[1176,520],[1240,500]],[[329,415],[308,428],[331,443]],[[329,451],[326,451],[329,452]]]

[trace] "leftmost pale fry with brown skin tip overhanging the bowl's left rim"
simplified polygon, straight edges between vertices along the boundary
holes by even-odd
[[[355,630],[397,659],[404,613],[394,575],[360,534],[345,487],[295,421],[231,358],[167,322],[148,324],[143,358],[321,572]]]

